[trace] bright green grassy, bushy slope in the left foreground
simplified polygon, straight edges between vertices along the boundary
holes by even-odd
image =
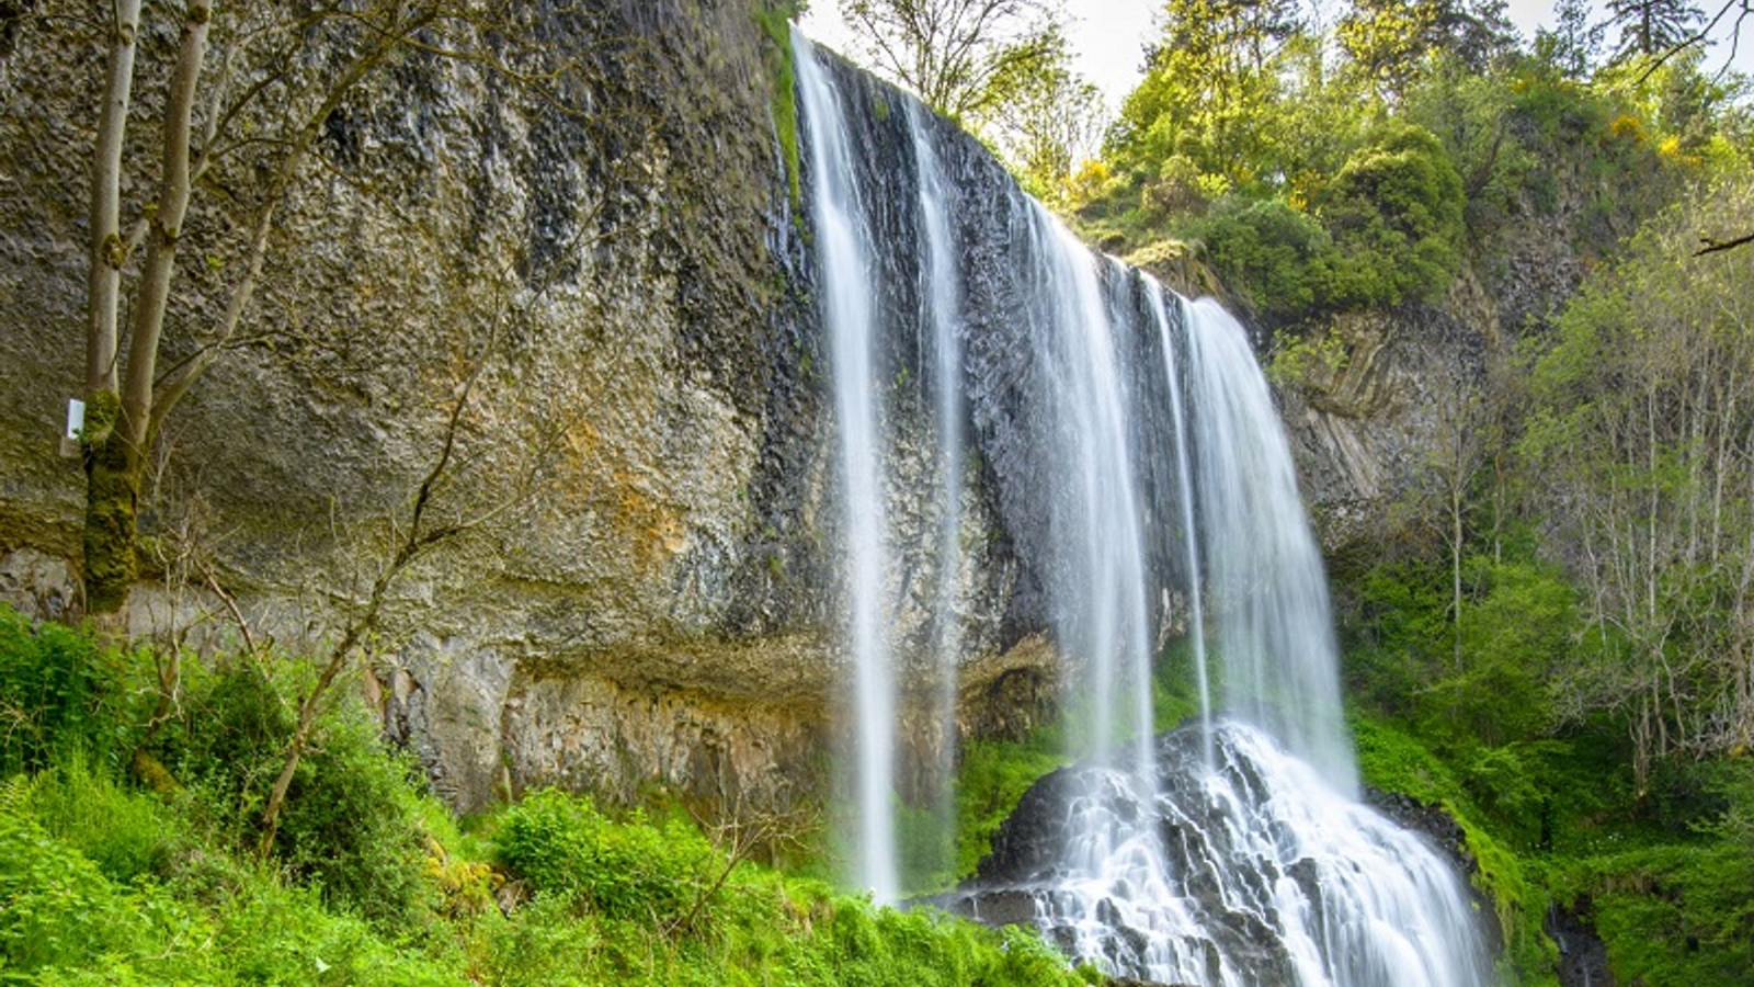
[[[270,850],[310,662],[119,652],[0,606],[0,983],[1075,985],[1051,947],[896,911],[553,790],[458,827],[356,695]],[[733,841],[735,843],[735,841]]]

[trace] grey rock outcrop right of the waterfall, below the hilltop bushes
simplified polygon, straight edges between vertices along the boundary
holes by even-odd
[[[1542,332],[1591,258],[1614,248],[1621,232],[1598,220],[1605,190],[1565,165],[1554,162],[1554,202],[1522,193],[1472,234],[1442,299],[1337,316],[1314,330],[1330,337],[1326,358],[1275,381],[1331,562],[1370,558],[1384,539],[1408,534],[1419,502],[1440,495],[1445,453],[1480,446],[1477,432],[1501,397],[1491,367],[1519,337]],[[1270,358],[1270,341],[1258,342]]]

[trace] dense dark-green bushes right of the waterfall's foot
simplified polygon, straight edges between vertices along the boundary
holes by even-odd
[[[1580,634],[1566,573],[1529,558],[1533,544],[1512,532],[1501,557],[1466,560],[1459,623],[1442,560],[1356,576],[1344,639],[1363,776],[1461,824],[1512,982],[1554,982],[1542,919],[1556,901],[1594,924],[1619,982],[1740,983],[1754,771],[1729,757],[1659,766],[1640,785],[1619,724],[1561,715],[1575,697],[1565,666],[1589,660],[1594,634]]]

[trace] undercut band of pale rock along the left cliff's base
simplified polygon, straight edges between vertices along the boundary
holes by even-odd
[[[32,550],[0,555],[0,602],[77,620],[77,566]],[[519,634],[517,613],[498,613],[491,634],[414,623],[424,613],[393,615],[351,680],[454,811],[547,785],[623,806],[667,792],[709,820],[821,817],[831,799],[833,760],[851,738],[840,715],[847,659],[819,634],[561,652],[540,627]],[[316,594],[167,581],[139,583],[114,632],[210,664],[225,653],[321,653],[340,622]],[[1040,636],[970,660],[958,743],[1028,736],[1052,715],[1061,666]],[[933,674],[916,674],[903,697],[902,789],[912,801],[942,785]]]

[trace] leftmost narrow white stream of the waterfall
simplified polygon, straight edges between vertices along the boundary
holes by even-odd
[[[900,892],[895,817],[895,673],[884,632],[888,611],[888,525],[884,518],[882,393],[877,388],[877,300],[870,290],[875,265],[865,204],[852,169],[852,142],[840,93],[821,70],[816,51],[793,32],[798,53],[798,93],[810,128],[816,251],[823,265],[823,316],[833,371],[835,421],[840,427],[840,495],[845,511],[847,641],[852,650],[856,710],[854,803],[858,827],[856,882],[879,903]]]

